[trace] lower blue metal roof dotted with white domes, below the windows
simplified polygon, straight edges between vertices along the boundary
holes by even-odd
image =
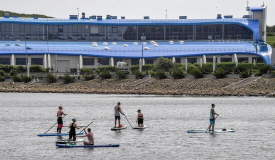
[[[119,41],[116,44],[102,44],[103,41],[96,41],[98,46],[93,47],[88,41],[27,41],[27,54],[58,54],[58,55],[84,55],[96,57],[114,58],[140,58],[142,45],[141,42],[133,44],[135,41]],[[10,44],[10,45],[6,45]],[[15,45],[16,44],[16,45]],[[18,44],[21,44],[18,46]],[[123,46],[128,44],[128,46]],[[254,46],[246,41],[185,41],[183,44],[175,41],[170,44],[167,41],[157,42],[159,46],[147,42],[143,47],[144,58],[164,57],[188,57],[200,55],[220,55],[220,54],[252,54],[255,55]],[[104,50],[109,47],[109,50]],[[259,46],[258,46],[259,47]],[[257,55],[262,57],[265,63],[271,63],[271,47],[268,50],[258,51]],[[258,48],[260,50],[260,48]],[[24,41],[0,41],[0,55],[25,54]]]

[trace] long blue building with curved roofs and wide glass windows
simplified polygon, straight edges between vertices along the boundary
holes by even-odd
[[[59,72],[96,68],[124,61],[154,63],[170,57],[178,63],[271,63],[266,44],[266,5],[247,7],[247,15],[213,19],[117,19],[93,15],[78,19],[0,17],[0,63],[38,64]],[[143,45],[142,45],[143,43]],[[257,49],[256,49],[257,48]],[[174,57],[174,58],[173,58]]]

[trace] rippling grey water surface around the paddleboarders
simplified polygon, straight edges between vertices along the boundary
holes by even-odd
[[[148,128],[111,131],[117,101],[132,125],[137,109]],[[274,159],[275,98],[182,97],[59,93],[0,93],[1,159]],[[187,133],[206,129],[210,104],[220,115],[215,128],[231,133]],[[78,125],[90,125],[97,144],[113,148],[56,148],[58,137],[38,137],[56,122],[57,106]],[[55,132],[56,127],[49,132]],[[68,131],[63,127],[62,131]],[[63,136],[66,138],[67,136]]]

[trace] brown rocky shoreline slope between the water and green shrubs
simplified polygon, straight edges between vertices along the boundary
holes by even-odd
[[[127,87],[136,80],[93,79],[86,82],[33,83],[0,82],[0,92],[41,92],[41,93],[103,93],[103,94],[153,94],[153,95],[194,95],[194,96],[273,96],[275,78],[260,78],[244,87],[233,87],[240,81],[225,79],[150,79],[135,87]]]

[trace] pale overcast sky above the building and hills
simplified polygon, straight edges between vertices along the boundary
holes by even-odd
[[[126,19],[178,19],[185,15],[188,19],[216,18],[217,14],[246,15],[247,0],[1,0],[0,10],[18,13],[37,13],[56,18],[68,18],[69,14],[86,17],[106,14],[125,16]],[[275,25],[275,0],[249,0],[249,6],[267,5],[267,25]],[[272,16],[273,15],[273,16]]]

